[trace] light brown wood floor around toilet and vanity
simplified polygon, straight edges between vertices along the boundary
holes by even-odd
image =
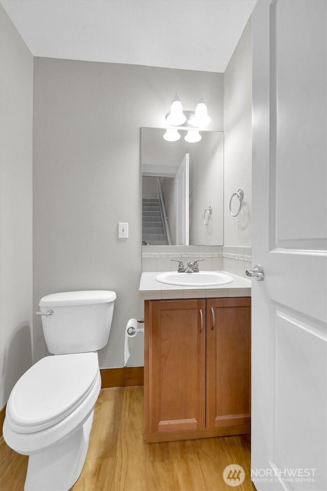
[[[24,489],[28,457],[0,439],[0,490]],[[237,463],[237,487],[222,477]],[[248,435],[169,443],[143,442],[143,387],[102,389],[82,474],[71,491],[255,491]]]

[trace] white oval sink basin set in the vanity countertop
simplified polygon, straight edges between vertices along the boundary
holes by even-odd
[[[215,286],[225,285],[233,281],[231,276],[218,271],[201,271],[201,273],[176,273],[172,271],[159,273],[155,279],[159,283],[179,286]]]

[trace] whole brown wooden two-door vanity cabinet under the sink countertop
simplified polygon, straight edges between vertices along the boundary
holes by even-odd
[[[250,305],[145,301],[145,441],[250,432]]]

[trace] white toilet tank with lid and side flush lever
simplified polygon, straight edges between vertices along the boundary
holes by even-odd
[[[84,353],[103,348],[109,338],[115,292],[92,290],[46,295],[39,302],[50,353]]]

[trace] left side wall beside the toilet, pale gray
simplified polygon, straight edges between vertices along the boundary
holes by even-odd
[[[0,5],[0,409],[32,365],[33,57]]]

